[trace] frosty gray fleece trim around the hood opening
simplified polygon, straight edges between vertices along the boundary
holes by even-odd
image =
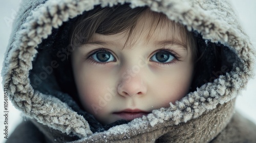
[[[49,0],[34,9],[32,15],[28,14],[30,16],[17,30],[15,40],[10,42],[10,48],[6,52],[2,70],[3,85],[9,87],[13,104],[24,111],[27,116],[53,129],[67,134],[73,132],[79,137],[90,136],[92,132],[82,116],[73,112],[57,98],[33,90],[29,81],[29,70],[32,69],[32,60],[37,54],[37,45],[51,34],[53,28],[58,28],[63,21],[83,11],[93,9],[94,5],[101,4],[105,7],[124,2],[131,3],[131,7],[149,6],[153,11],[163,12],[171,20],[186,25],[189,30],[193,28],[201,32],[205,39],[210,39],[212,42],[220,41],[228,45],[236,51],[242,62],[235,70],[220,76],[213,83],[206,83],[197,91],[177,101],[175,105],[170,104],[169,108],[154,110],[146,117],[135,119],[132,122],[137,123],[136,128],[144,128],[145,125],[154,127],[169,120],[174,121],[172,123],[174,125],[188,122],[215,109],[218,104],[234,99],[241,89],[245,88],[248,79],[253,76],[255,52],[252,50],[252,44],[248,42],[248,36],[243,32],[239,23],[233,20],[236,19],[232,18],[235,14],[231,13],[232,10],[228,3],[203,0],[182,2],[176,0]],[[222,12],[217,12],[220,9]],[[230,13],[225,11],[230,11]],[[133,130],[132,126],[120,125],[118,127]],[[125,130],[120,130],[119,133]],[[111,129],[108,132],[116,133]]]

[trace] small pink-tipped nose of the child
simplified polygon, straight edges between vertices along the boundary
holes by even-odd
[[[118,93],[123,97],[143,96],[147,88],[139,74],[129,79],[123,80],[118,84]]]

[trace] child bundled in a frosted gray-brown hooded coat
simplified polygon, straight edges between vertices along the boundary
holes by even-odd
[[[228,3],[31,3],[3,69],[29,121],[7,142],[256,140],[234,114],[254,51]]]

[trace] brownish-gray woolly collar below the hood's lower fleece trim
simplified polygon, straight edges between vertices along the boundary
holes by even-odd
[[[79,142],[209,142],[216,137],[229,123],[233,111],[234,100],[219,104],[211,112],[203,113],[197,119],[186,124],[175,126],[175,121],[167,121],[155,127],[149,122],[135,119],[131,123],[116,126],[109,131],[96,133],[88,138],[73,141]],[[164,116],[164,114],[160,114]],[[144,125],[144,126],[141,126]],[[229,140],[230,141],[230,140]],[[232,141],[231,141],[232,142]],[[71,142],[70,142],[71,143]]]

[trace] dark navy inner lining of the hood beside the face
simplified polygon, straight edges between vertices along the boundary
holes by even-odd
[[[69,30],[75,20],[76,18],[73,18],[68,22],[63,22],[61,27],[53,29],[52,34],[38,45],[38,54],[33,60],[33,68],[29,74],[31,85],[41,93],[58,98],[82,115],[88,121],[92,132],[102,132],[113,126],[125,124],[127,121],[117,121],[102,126],[91,114],[81,108],[66,49],[69,45]],[[197,87],[199,88],[207,82],[213,82],[220,75],[225,75],[240,65],[236,53],[228,46],[204,40],[202,35],[196,31],[194,34],[198,41],[199,55],[204,53],[207,56],[203,56],[198,62],[198,66],[195,67],[197,73],[190,92],[197,90]],[[215,50],[220,54],[213,54]],[[200,62],[204,63],[204,66],[201,66]]]

